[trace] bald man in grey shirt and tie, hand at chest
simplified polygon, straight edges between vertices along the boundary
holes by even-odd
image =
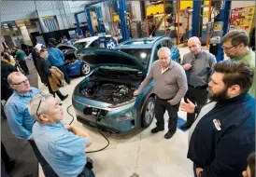
[[[188,41],[191,50],[183,56],[182,66],[187,74],[189,89],[184,97],[198,105],[204,105],[208,98],[208,85],[210,76],[213,73],[214,64],[217,62],[214,55],[201,47],[198,37],[191,37]],[[182,129],[190,129],[194,122],[195,114],[187,113],[187,122],[181,126]]]

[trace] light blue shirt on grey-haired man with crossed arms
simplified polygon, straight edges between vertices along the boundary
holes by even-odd
[[[77,177],[86,164],[87,139],[64,128],[63,122],[33,126],[36,146],[50,167],[61,177]]]

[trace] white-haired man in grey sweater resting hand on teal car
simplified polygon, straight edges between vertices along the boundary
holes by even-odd
[[[156,94],[155,116],[157,119],[156,128],[151,129],[152,133],[164,130],[164,112],[168,111],[169,123],[165,139],[170,139],[175,134],[178,122],[178,107],[180,100],[188,90],[187,77],[184,69],[176,61],[171,61],[169,48],[158,50],[158,61],[154,61],[139,89],[135,90],[137,96],[154,79],[154,92]]]

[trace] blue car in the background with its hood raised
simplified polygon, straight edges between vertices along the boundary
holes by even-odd
[[[64,66],[68,76],[90,74],[91,66],[78,59],[77,48],[68,45],[58,45],[56,48],[64,52]]]

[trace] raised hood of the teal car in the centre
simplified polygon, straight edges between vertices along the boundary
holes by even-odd
[[[83,48],[78,50],[78,59],[93,66],[124,66],[135,68],[147,75],[147,70],[132,55],[107,48]]]

